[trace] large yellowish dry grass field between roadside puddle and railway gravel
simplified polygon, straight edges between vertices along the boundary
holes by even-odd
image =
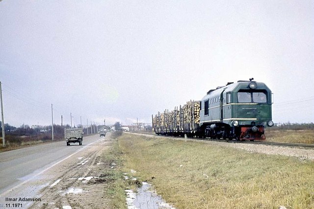
[[[124,171],[136,170],[176,208],[314,208],[313,162],[202,141],[118,139]]]

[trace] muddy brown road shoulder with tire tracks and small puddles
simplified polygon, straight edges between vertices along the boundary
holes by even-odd
[[[47,171],[51,184],[40,191],[42,201],[31,209],[99,209],[109,208],[105,197],[105,166],[102,153],[111,145],[111,139],[101,139],[70,159]]]

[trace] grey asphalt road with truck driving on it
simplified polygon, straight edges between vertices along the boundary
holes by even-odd
[[[65,141],[45,143],[0,153],[0,196],[38,176],[101,139],[99,135],[83,138],[81,146]]]

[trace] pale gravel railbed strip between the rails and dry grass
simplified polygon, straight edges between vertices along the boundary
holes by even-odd
[[[158,137],[157,135],[150,134],[138,134],[145,135],[147,137]],[[195,140],[198,139],[184,139],[184,138],[171,138],[175,140]],[[305,149],[305,148],[292,148],[292,147],[283,147],[283,146],[273,146],[273,145],[264,145],[264,144],[246,144],[246,143],[227,143],[220,141],[207,141],[202,140],[206,143],[215,144],[219,146],[234,147],[237,149],[246,150],[251,153],[263,153],[267,155],[284,155],[297,157],[299,160],[311,160],[314,161],[314,149]]]

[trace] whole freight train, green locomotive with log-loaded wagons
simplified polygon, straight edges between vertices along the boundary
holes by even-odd
[[[156,134],[236,140],[265,139],[273,126],[272,93],[262,82],[237,81],[210,90],[201,101],[152,116]]]

